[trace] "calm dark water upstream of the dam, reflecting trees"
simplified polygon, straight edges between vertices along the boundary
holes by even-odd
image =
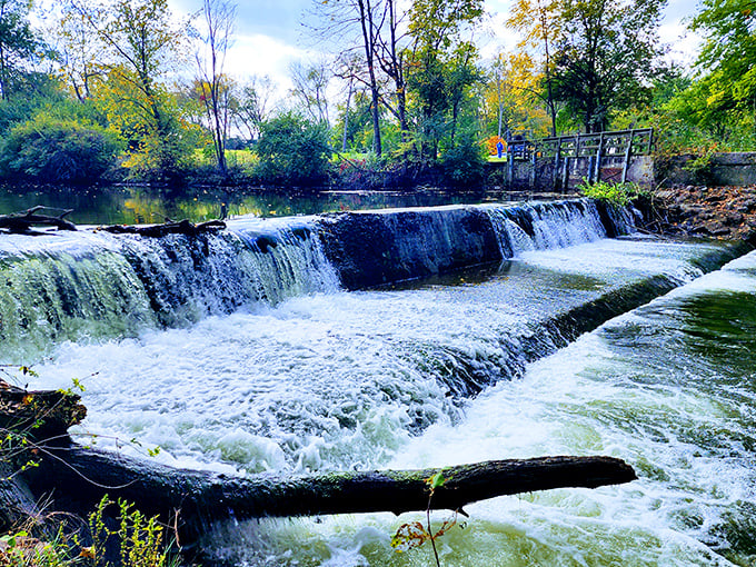
[[[26,189],[0,187],[0,213],[42,205],[73,209],[68,217],[80,225],[136,225],[189,219],[195,222],[229,217],[288,217],[339,210],[396,207],[431,207],[527,198],[524,195],[484,190],[447,192],[424,189],[399,191],[321,191],[296,193],[284,190],[223,190],[216,188],[160,191],[149,187]],[[54,213],[51,211],[49,213]]]

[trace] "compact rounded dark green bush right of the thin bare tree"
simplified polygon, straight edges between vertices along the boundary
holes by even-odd
[[[328,126],[288,112],[262,125],[256,151],[260,176],[270,183],[312,186],[328,178]]]

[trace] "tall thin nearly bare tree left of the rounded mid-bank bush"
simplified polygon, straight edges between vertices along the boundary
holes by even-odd
[[[202,30],[196,30],[201,48],[195,53],[199,84],[216,151],[218,169],[225,176],[226,140],[231,121],[230,87],[223,76],[226,53],[231,44],[236,21],[236,6],[228,0],[202,0]]]

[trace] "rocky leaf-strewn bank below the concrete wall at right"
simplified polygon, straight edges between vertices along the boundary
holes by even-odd
[[[649,230],[756,245],[756,185],[665,189],[653,206]]]

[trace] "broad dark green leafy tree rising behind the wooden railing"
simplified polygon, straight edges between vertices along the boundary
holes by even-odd
[[[556,0],[553,96],[587,132],[648,97],[666,0]]]

